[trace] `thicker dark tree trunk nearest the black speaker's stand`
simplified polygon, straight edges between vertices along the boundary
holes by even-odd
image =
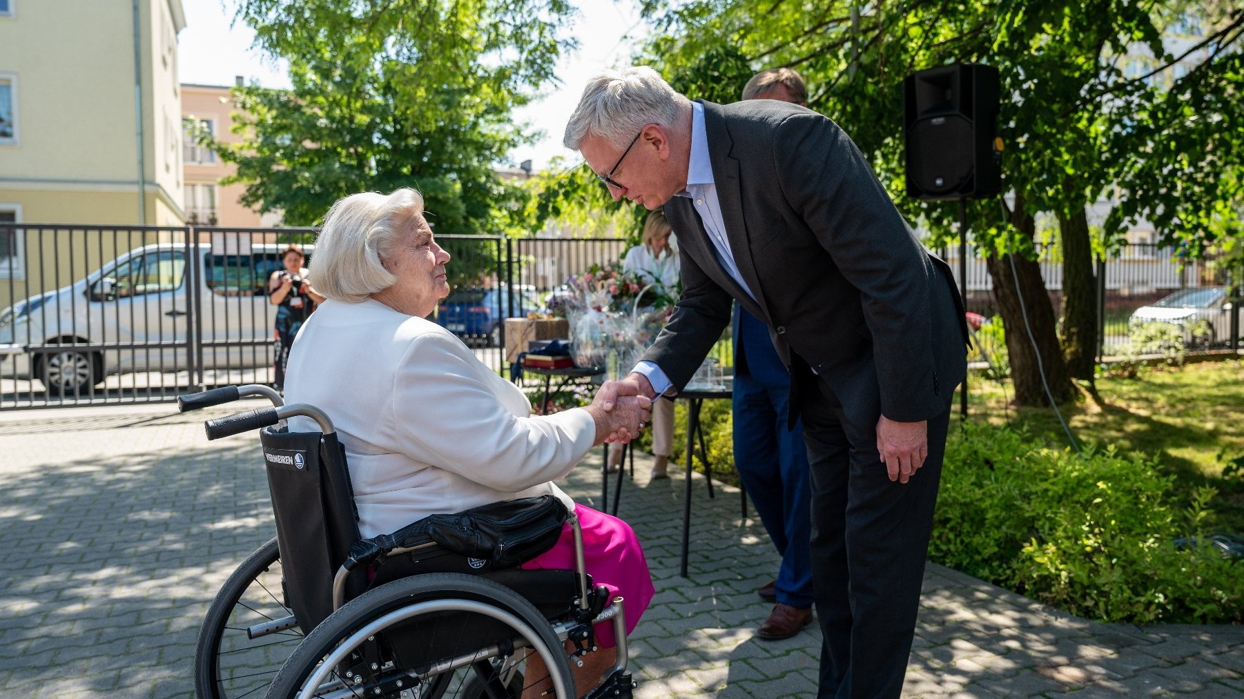
[[[1020,210],[1019,204],[1016,204],[1016,210]],[[1025,235],[1033,238],[1036,231],[1033,216],[1016,218],[1020,220],[1014,220],[1013,224]],[[1011,272],[1011,257],[1015,261],[1014,274]],[[1001,313],[1003,327],[1006,328],[1006,351],[1010,353],[1011,378],[1015,382],[1015,404],[1046,404],[1045,388],[1041,382],[1042,367],[1054,400],[1064,403],[1072,399],[1076,391],[1071,383],[1071,376],[1067,373],[1067,364],[1062,361],[1054,325],[1054,305],[1050,303],[1050,294],[1045,290],[1041,267],[1035,260],[1018,255],[991,256],[985,259],[985,265],[989,269],[989,276],[994,280],[998,312]],[[1019,277],[1018,289],[1016,276]],[[1023,294],[1023,306],[1020,305],[1020,294]],[[1028,326],[1024,322],[1025,315],[1028,316]],[[1028,327],[1033,328],[1033,336],[1040,348],[1040,362],[1033,352],[1033,341],[1029,338]]]

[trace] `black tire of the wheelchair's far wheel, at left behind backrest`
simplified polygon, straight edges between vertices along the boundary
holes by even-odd
[[[203,617],[203,626],[199,627],[199,639],[194,649],[194,689],[202,699],[229,699],[230,693],[220,677],[220,644],[224,633],[241,596],[259,576],[267,572],[277,562],[280,562],[280,552],[274,537],[256,549],[234,570],[220,587],[215,599],[211,601],[211,606],[208,607],[208,613]],[[294,632],[297,632],[296,627]],[[275,673],[277,669],[280,668],[274,667],[272,672]],[[236,695],[240,697],[250,692],[253,690],[239,692]]]

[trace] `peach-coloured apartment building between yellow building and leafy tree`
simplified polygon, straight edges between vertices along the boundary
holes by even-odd
[[[215,138],[238,143],[241,138],[231,128],[235,108],[228,87],[182,83],[185,220],[228,228],[279,225],[280,216],[261,215],[241,204],[245,187],[220,184],[221,178],[234,173],[235,165],[223,163],[210,149],[195,146],[192,137],[193,124],[202,123]]]

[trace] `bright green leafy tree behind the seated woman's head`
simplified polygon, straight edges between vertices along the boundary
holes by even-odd
[[[243,0],[292,88],[234,91],[243,203],[318,221],[341,197],[414,187],[438,233],[505,233],[526,194],[493,172],[530,141],[511,112],[572,42],[565,0]]]

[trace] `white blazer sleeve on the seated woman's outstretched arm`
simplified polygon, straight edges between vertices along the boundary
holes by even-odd
[[[476,362],[449,337],[411,342],[391,399],[407,455],[504,491],[570,473],[596,439],[587,410],[515,415],[476,378]]]

